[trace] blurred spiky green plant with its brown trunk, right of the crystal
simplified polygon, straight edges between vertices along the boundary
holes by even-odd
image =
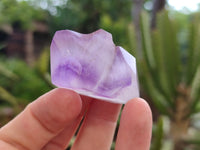
[[[129,28],[137,48],[134,28]],[[200,21],[191,19],[187,54],[177,38],[176,20],[167,11],[157,16],[157,28],[150,30],[149,18],[141,14],[142,56],[138,56],[140,82],[161,114],[170,119],[174,150],[182,150],[188,138],[193,114],[200,111]]]

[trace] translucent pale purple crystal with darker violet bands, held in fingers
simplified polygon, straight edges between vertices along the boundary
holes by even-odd
[[[135,58],[102,29],[90,34],[57,31],[51,43],[51,78],[57,87],[113,103],[139,97]]]

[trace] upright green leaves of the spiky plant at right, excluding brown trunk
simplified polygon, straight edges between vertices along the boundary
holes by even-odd
[[[192,19],[192,18],[191,18]],[[195,19],[195,18],[194,18]],[[180,84],[191,88],[191,101],[199,98],[199,21],[188,29],[187,55],[178,41],[177,24],[166,11],[158,15],[158,27],[150,31],[149,17],[141,14],[143,59],[138,62],[141,83],[162,113],[173,112]],[[129,31],[134,34],[129,28]],[[131,41],[135,41],[134,37]],[[137,54],[136,54],[137,55]],[[187,57],[187,58],[186,58]],[[145,82],[146,81],[146,82]],[[195,92],[196,91],[196,92]],[[185,93],[186,94],[186,93]],[[160,96],[159,96],[160,95]],[[170,110],[171,109],[171,110]]]

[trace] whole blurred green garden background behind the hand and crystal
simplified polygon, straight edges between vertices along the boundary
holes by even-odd
[[[200,5],[177,11],[165,0],[1,0],[0,126],[54,88],[56,30],[99,28],[137,59],[141,97],[153,111],[151,150],[199,150]]]

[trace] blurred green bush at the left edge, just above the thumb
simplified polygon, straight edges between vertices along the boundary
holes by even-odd
[[[0,68],[0,86],[21,101],[28,103],[51,89],[39,73],[22,60],[0,57]]]

